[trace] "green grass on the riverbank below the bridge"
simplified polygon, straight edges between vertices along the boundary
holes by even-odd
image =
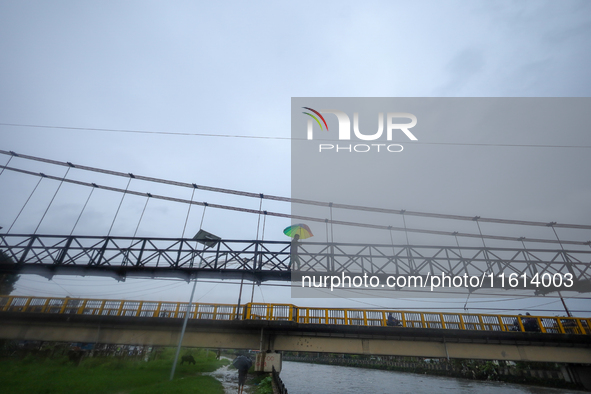
[[[181,355],[188,353],[184,350]],[[220,382],[199,372],[215,371],[228,361],[217,361],[213,352],[190,351],[196,365],[177,365],[175,379],[169,381],[174,349],[165,349],[155,361],[135,361],[113,357],[87,358],[79,366],[66,357],[22,360],[0,359],[1,391],[18,393],[220,393]]]

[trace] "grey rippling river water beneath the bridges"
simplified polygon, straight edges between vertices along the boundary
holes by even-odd
[[[281,379],[289,394],[434,394],[444,391],[478,394],[582,393],[576,390],[290,361],[283,362]]]

